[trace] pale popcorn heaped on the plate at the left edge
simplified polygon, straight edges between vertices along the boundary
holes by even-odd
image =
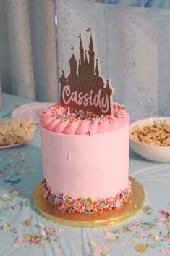
[[[9,118],[0,122],[0,146],[23,144],[31,139],[35,125],[20,118]]]

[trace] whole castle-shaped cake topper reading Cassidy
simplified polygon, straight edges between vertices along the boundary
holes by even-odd
[[[112,88],[109,80],[104,82],[99,70],[98,59],[95,59],[94,36],[91,28],[89,50],[85,51],[80,38],[80,60],[77,62],[72,47],[72,57],[69,59],[70,73],[68,78],[62,71],[60,103],[75,110],[85,110],[98,115],[113,114]]]

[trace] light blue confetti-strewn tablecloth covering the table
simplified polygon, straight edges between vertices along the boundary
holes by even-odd
[[[2,94],[0,119],[30,99]],[[143,184],[145,202],[115,226],[73,228],[46,220],[33,208],[43,178],[39,131],[29,144],[0,151],[0,255],[170,255],[170,164],[129,155],[129,173]]]

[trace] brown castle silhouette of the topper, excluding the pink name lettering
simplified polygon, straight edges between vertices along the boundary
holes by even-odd
[[[68,78],[65,77],[64,71],[62,71],[62,75],[59,78],[61,83],[61,105],[64,105],[64,101],[62,98],[62,91],[64,86],[69,85],[71,91],[77,91],[80,93],[83,91],[84,94],[90,94],[90,91],[93,90],[93,94],[96,94],[99,89],[101,89],[101,97],[106,94],[109,97],[109,111],[107,114],[111,114],[112,108],[112,88],[109,85],[109,80],[105,85],[103,77],[100,75],[99,67],[98,67],[98,59],[95,60],[95,51],[93,44],[92,33],[90,33],[90,43],[89,50],[85,51],[82,45],[82,37],[80,37],[80,60],[77,62],[75,58],[74,52],[72,53],[72,57],[69,59],[70,73]],[[73,48],[72,48],[73,49]],[[69,106],[74,106],[77,110],[87,110],[85,106],[75,106],[75,102],[69,102]],[[98,107],[93,106],[92,110],[99,113]]]

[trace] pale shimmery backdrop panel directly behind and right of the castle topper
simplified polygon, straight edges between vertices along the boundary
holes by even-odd
[[[85,30],[92,26],[102,75],[116,88],[114,101],[125,105],[131,120],[170,115],[169,9],[57,0],[56,11],[59,75],[69,73],[72,46],[80,58],[80,33],[88,49]]]

